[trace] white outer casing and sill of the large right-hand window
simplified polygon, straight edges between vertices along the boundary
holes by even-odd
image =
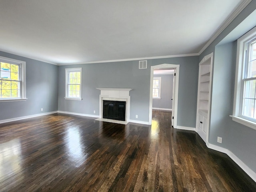
[[[243,96],[243,73],[244,73],[244,50],[246,43],[252,38],[256,37],[256,27],[252,28],[249,32],[244,34],[237,40],[237,51],[236,51],[236,79],[234,87],[234,104],[233,104],[233,114],[230,115],[232,120],[238,122],[244,126],[250,127],[256,130],[256,122],[246,119],[241,116],[242,108],[242,96]]]

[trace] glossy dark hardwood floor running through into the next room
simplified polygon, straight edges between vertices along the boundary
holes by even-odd
[[[192,131],[52,114],[0,124],[0,191],[233,191],[256,183]]]

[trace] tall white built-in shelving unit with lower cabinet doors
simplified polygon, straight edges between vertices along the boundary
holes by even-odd
[[[213,53],[199,63],[196,132],[208,142]]]

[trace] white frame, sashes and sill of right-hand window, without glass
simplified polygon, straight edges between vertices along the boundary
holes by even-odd
[[[230,115],[232,120],[244,126],[248,126],[256,130],[256,120],[248,116],[242,115],[243,99],[244,99],[244,82],[246,80],[255,79],[248,78],[248,58],[250,43],[256,40],[256,27],[252,28],[249,32],[241,36],[237,40],[236,52],[236,77],[234,86],[234,104],[233,114]],[[246,74],[247,73],[247,74]]]

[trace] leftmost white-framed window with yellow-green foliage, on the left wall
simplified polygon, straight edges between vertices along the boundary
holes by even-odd
[[[26,100],[26,62],[0,56],[0,102]]]

